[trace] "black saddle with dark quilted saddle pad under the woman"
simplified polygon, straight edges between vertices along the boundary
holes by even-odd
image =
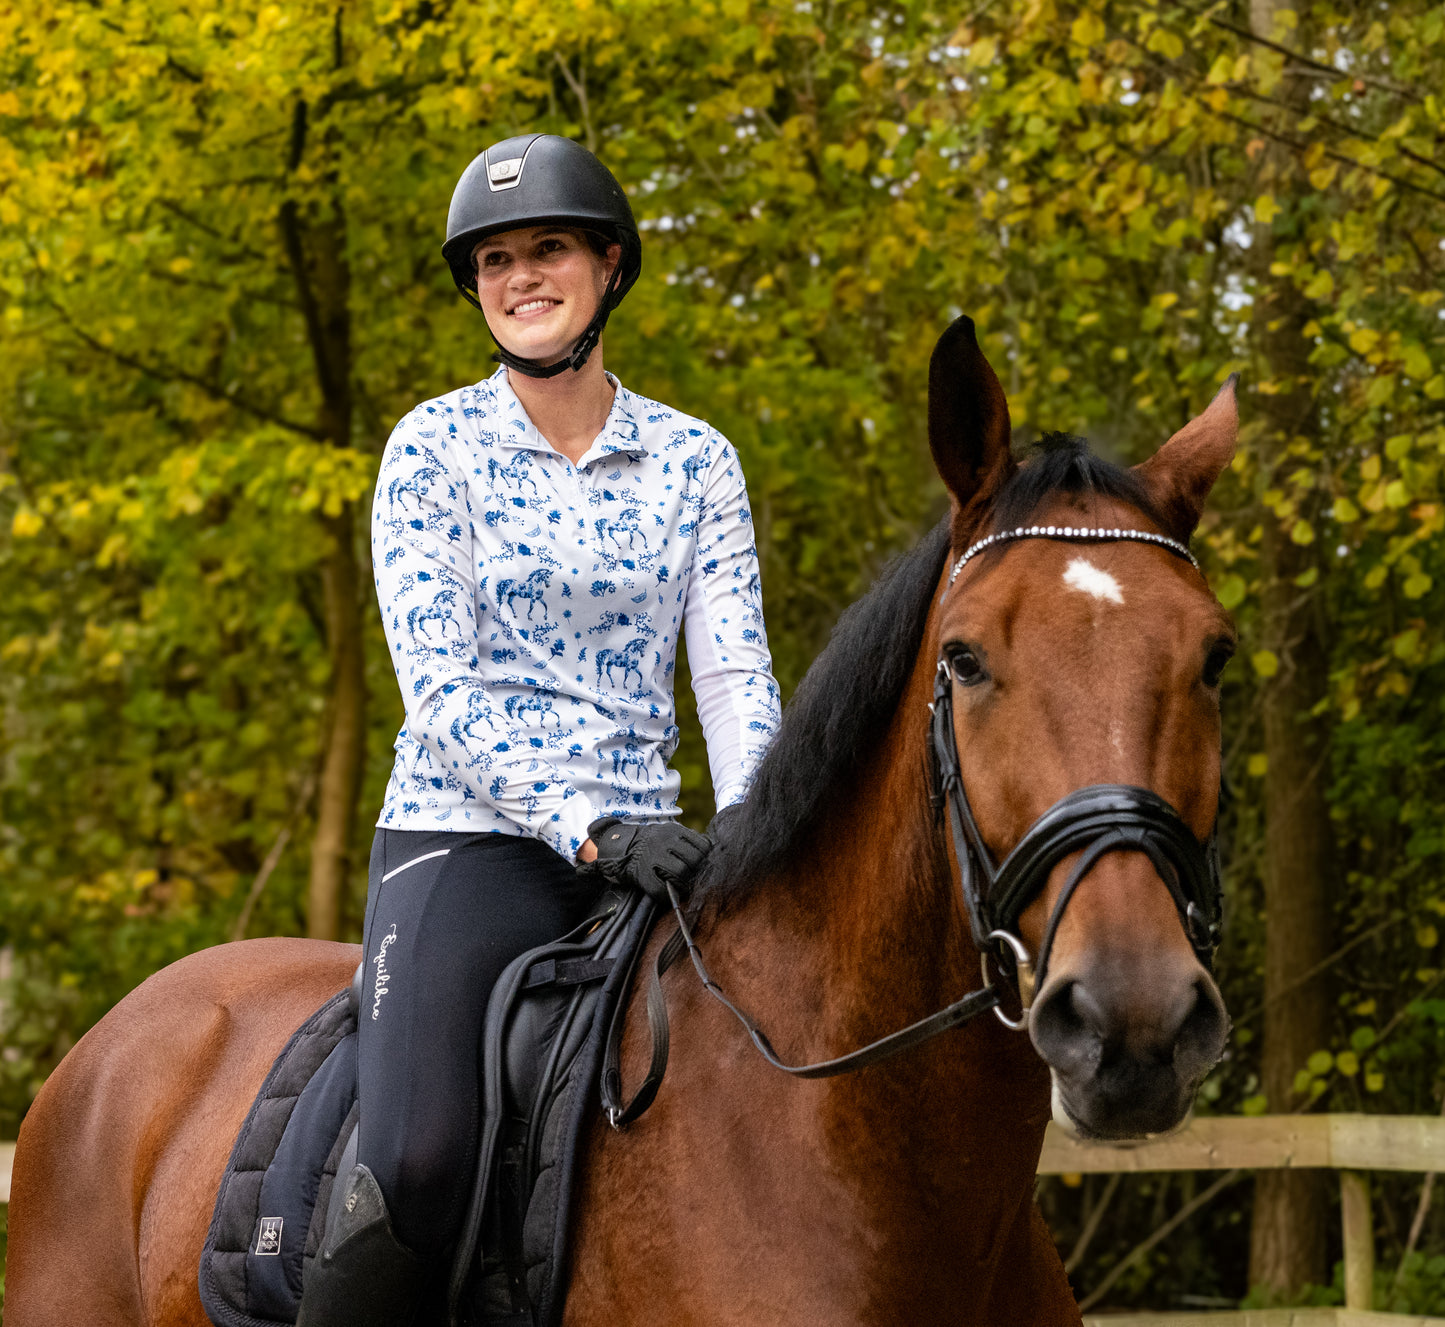
[[[608,892],[592,916],[501,974],[478,1048],[483,1123],[445,1311],[428,1327],[556,1327],[566,1292],[571,1198],[598,1074],[655,909]],[[306,1266],[335,1220],[355,1159],[360,977],[286,1044],[247,1113],[201,1255],[217,1327],[290,1327]]]

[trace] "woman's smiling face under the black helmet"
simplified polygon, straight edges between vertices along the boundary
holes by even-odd
[[[600,257],[579,230],[538,226],[488,236],[474,250],[477,298],[512,354],[555,364],[592,321],[621,257]]]

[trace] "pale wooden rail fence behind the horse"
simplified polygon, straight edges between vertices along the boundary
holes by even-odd
[[[14,1143],[0,1143],[0,1203],[10,1200]],[[1224,1169],[1340,1171],[1345,1308],[1087,1317],[1087,1327],[1445,1327],[1445,1318],[1370,1311],[1374,1221],[1370,1171],[1445,1171],[1445,1119],[1394,1115],[1196,1117],[1169,1138],[1127,1148],[1081,1143],[1049,1125],[1040,1175]]]

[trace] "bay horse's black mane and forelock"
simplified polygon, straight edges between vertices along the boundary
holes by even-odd
[[[1094,455],[1082,438],[1045,434],[1004,483],[988,526],[1026,525],[1061,493],[1117,499],[1163,525],[1131,470]],[[948,548],[945,518],[838,619],[788,703],[747,801],[722,818],[698,880],[699,906],[727,909],[811,846],[822,808],[857,776],[897,710]]]

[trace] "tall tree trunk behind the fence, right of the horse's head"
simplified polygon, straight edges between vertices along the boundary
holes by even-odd
[[[1279,39],[1274,17],[1283,0],[1251,0],[1254,32]],[[1303,33],[1287,36],[1308,48]],[[1259,59],[1259,55],[1256,55]],[[1287,103],[1306,95],[1303,80],[1285,78],[1277,95]],[[1296,171],[1289,149],[1272,145],[1263,153],[1263,191],[1280,199],[1299,197],[1290,184]],[[1309,302],[1287,278],[1273,278],[1274,241],[1269,226],[1256,226],[1253,240],[1256,304],[1253,343],[1260,382],[1277,387],[1257,393],[1259,454],[1270,487],[1299,493],[1299,509],[1286,520],[1266,515],[1261,541],[1263,643],[1279,659],[1266,682],[1264,753],[1264,1039],[1261,1078],[1272,1112],[1302,1104],[1295,1075],[1314,1051],[1328,1047],[1329,982],[1325,974],[1302,980],[1332,950],[1335,856],[1325,802],[1328,729],[1315,716],[1328,695],[1328,655],[1319,626],[1318,590],[1298,584],[1316,564],[1315,545],[1292,538],[1298,519],[1312,526],[1319,515],[1318,490],[1290,483],[1296,468],[1312,468],[1302,454],[1319,445],[1319,415],[1308,363],[1303,327]],[[1303,536],[1303,531],[1300,531]],[[1329,1279],[1327,1236],[1334,1203],[1321,1171],[1264,1171],[1254,1188],[1250,1284],[1289,1295]]]

